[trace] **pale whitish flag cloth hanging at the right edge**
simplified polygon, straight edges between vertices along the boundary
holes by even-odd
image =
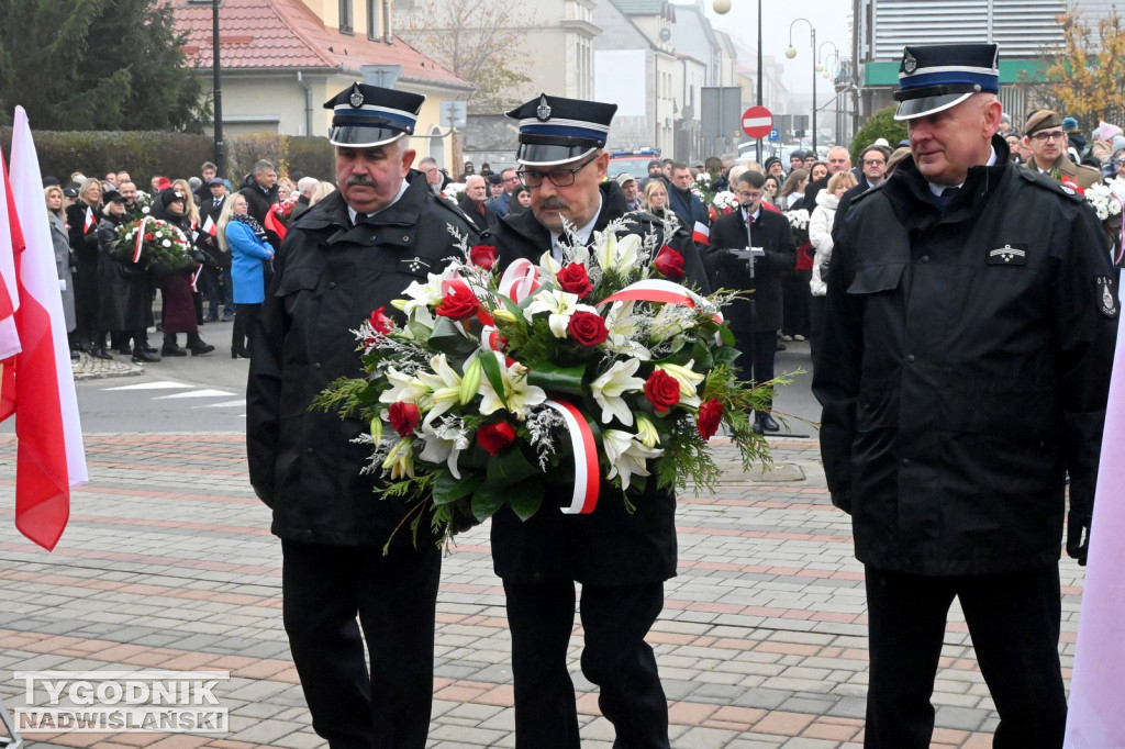
[[[1090,522],[1082,612],[1066,714],[1066,749],[1125,747],[1125,335],[1117,336]]]

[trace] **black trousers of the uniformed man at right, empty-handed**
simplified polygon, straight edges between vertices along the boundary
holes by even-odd
[[[927,749],[950,604],[965,614],[981,674],[1000,713],[993,747],[1062,747],[1066,696],[1059,662],[1059,567],[930,577],[866,567],[871,682],[865,747]]]

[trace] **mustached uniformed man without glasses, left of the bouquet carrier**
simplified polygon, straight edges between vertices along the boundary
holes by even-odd
[[[357,83],[325,105],[340,189],[289,227],[251,339],[250,480],[273,509],[286,632],[313,728],[333,749],[423,749],[430,727],[440,551],[400,532],[382,554],[407,507],[378,500],[377,477],[361,473],[370,445],[352,441],[368,425],[309,410],[330,382],[362,372],[351,331],[379,307],[397,314],[392,299],[459,253],[448,227],[476,241],[411,169],[423,100]]]

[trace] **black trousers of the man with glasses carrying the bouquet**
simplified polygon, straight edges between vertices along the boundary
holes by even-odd
[[[579,749],[567,647],[575,584],[504,580],[512,633],[516,749]],[[582,587],[586,647],[582,673],[598,687],[597,704],[620,749],[668,749],[668,702],[656,656],[645,642],[664,607],[664,585]]]

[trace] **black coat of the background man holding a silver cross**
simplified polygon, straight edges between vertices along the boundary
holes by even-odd
[[[796,267],[796,243],[784,214],[765,208],[758,209],[750,235],[754,246],[762,247],[766,253],[764,258],[754,260],[754,278],[750,278],[745,259],[727,252],[746,249],[746,222],[741,209],[720,216],[711,225],[711,247],[703,256],[703,264],[713,288],[754,291],[723,308],[722,315],[731,331],[776,331],[782,324],[781,280]]]

